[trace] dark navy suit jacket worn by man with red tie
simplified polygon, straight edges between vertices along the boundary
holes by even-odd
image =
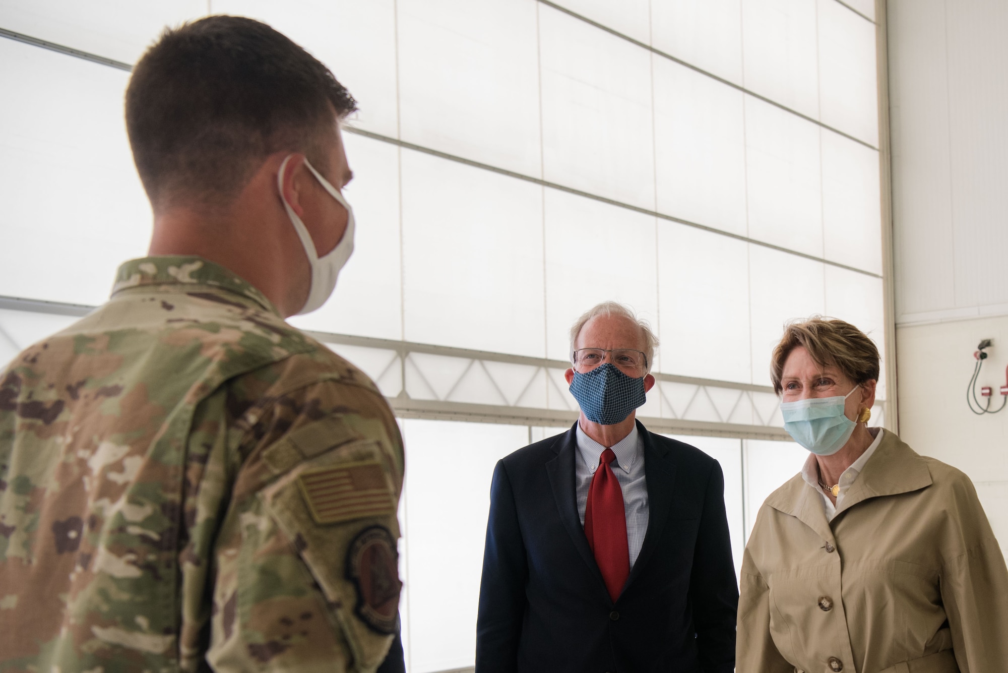
[[[637,422],[647,532],[614,603],[578,515],[575,427],[494,469],[477,673],[732,673],[739,591],[718,461]]]

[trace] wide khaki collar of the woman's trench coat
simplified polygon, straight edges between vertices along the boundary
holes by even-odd
[[[930,485],[931,473],[924,459],[895,433],[886,430],[875,454],[865,463],[864,469],[844,497],[837,515],[871,498],[909,493]],[[766,504],[796,517],[824,540],[833,540],[833,531],[826,512],[823,511],[822,499],[814,489],[804,483],[800,474],[770,494]],[[837,520],[834,517],[834,521]]]

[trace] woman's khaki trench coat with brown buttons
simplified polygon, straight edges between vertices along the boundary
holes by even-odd
[[[832,522],[801,475],[742,562],[738,673],[1004,673],[1008,569],[963,473],[886,431]]]

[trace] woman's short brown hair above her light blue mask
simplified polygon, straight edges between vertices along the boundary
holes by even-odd
[[[820,367],[833,366],[856,384],[878,381],[879,350],[868,334],[850,322],[812,315],[807,320],[792,320],[784,325],[784,335],[770,358],[770,379],[778,395],[783,391],[780,379],[784,362],[797,347],[804,347]]]

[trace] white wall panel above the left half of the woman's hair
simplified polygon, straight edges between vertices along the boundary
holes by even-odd
[[[770,354],[784,333],[785,321],[826,311],[824,266],[750,244],[753,383],[770,385]]]

